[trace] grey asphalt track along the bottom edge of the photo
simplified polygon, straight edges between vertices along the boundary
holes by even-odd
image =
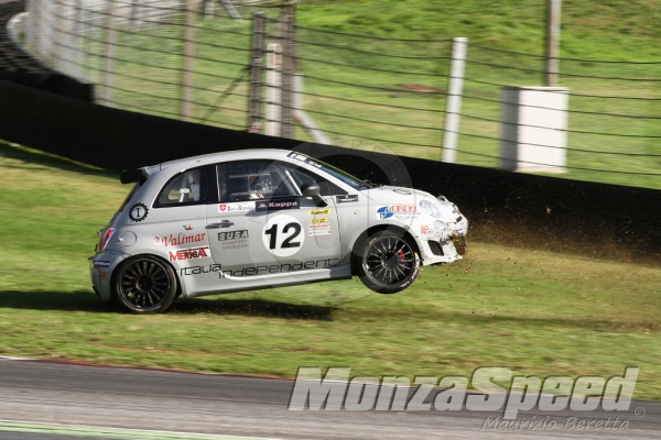
[[[292,388],[292,381],[0,359],[0,439],[661,439],[659,402],[633,400],[628,411],[524,411],[520,420],[555,427],[500,430],[485,427],[498,414],[465,409],[288,410]],[[571,417],[628,426],[564,429]]]

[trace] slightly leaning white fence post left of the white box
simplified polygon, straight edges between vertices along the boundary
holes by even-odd
[[[462,111],[462,94],[464,89],[464,66],[466,64],[466,45],[468,38],[452,40],[452,64],[449,66],[449,85],[445,110],[445,134],[443,136],[443,162],[454,163],[457,155],[457,138]]]

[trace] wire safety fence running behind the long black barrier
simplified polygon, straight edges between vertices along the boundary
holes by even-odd
[[[447,148],[452,41],[311,29],[275,0],[32,0],[26,11],[22,44],[95,84],[105,106],[404,156]],[[541,85],[544,59],[468,43],[463,62],[455,161],[498,167],[503,88]],[[537,146],[563,150],[567,177],[661,188],[661,63],[561,58],[560,86],[566,143]]]

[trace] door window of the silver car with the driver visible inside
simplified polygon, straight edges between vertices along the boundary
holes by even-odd
[[[218,165],[221,202],[291,197],[296,193],[273,161],[238,161]]]

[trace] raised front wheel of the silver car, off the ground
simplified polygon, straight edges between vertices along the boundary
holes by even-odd
[[[362,284],[379,294],[397,294],[418,277],[420,256],[408,237],[379,231],[369,237],[357,255]]]

